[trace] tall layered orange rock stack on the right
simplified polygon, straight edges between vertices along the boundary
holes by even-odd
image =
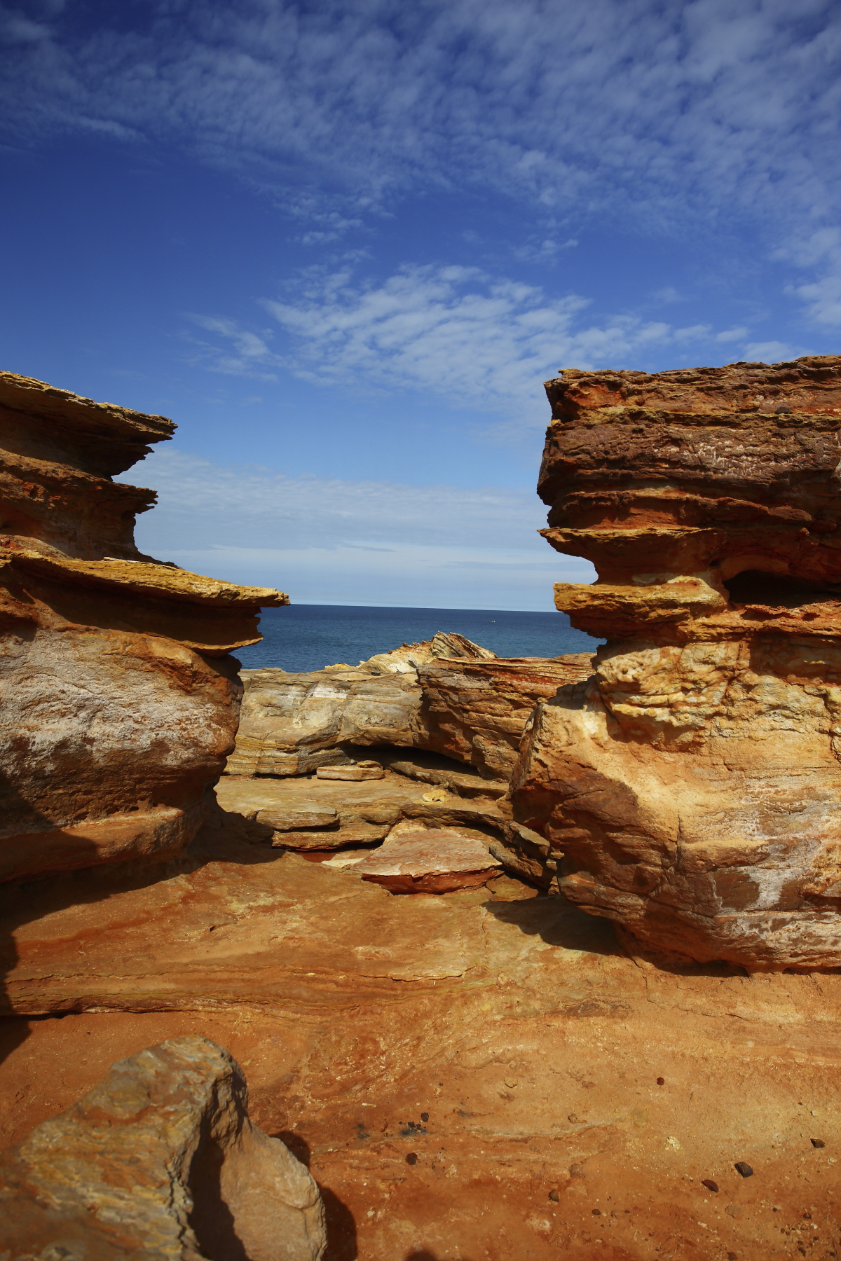
[[[566,371],[543,531],[606,638],[542,702],[514,817],[567,898],[643,946],[748,968],[841,963],[841,357]]]

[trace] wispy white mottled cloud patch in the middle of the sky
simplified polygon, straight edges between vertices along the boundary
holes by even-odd
[[[224,343],[200,343],[203,361],[236,376],[282,368],[325,386],[415,390],[541,426],[542,382],[559,368],[635,367],[656,347],[746,335],[625,314],[588,322],[585,298],[548,298],[536,285],[461,266],[406,266],[381,282],[311,270],[286,300],[264,306],[287,334],[287,348],[272,349],[265,330],[195,318]]]

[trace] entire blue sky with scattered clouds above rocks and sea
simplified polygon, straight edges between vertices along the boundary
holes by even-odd
[[[0,4],[4,367],[163,412],[140,545],[551,608],[560,367],[837,353],[841,9]]]

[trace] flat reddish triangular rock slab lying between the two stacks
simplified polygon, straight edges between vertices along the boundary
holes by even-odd
[[[392,834],[348,869],[392,893],[450,893],[487,884],[502,864],[487,845],[454,827],[417,827]]]

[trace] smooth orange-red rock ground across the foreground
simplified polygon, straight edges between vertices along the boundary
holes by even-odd
[[[10,900],[0,1142],[202,1034],[323,1188],[328,1261],[841,1256],[837,975],[668,971],[511,876],[401,897],[318,857],[228,816],[163,879]]]

